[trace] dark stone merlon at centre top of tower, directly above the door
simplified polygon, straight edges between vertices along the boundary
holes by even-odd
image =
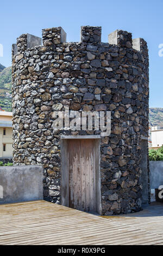
[[[80,41],[94,44],[101,42],[101,27],[82,26]]]

